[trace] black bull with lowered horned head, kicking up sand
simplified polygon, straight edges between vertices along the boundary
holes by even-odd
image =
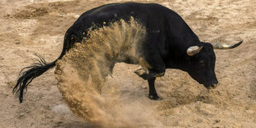
[[[121,19],[129,21],[130,17],[140,21],[147,31],[143,50],[144,59],[150,68],[148,71],[139,69],[135,73],[148,80],[151,99],[159,99],[154,81],[156,77],[164,75],[165,69],[181,69],[206,88],[216,88],[216,55],[213,49],[231,49],[242,43],[241,41],[235,45],[220,45],[201,42],[183,18],[167,7],[155,3],[126,2],[107,4],[84,12],[66,32],[63,51],[58,59],[61,59],[75,43],[81,42],[83,37],[87,36],[84,33],[93,26],[108,26],[111,22]],[[48,64],[45,59],[40,56],[39,58],[39,63],[24,68],[26,71],[21,70],[17,84],[13,88],[13,92],[19,92],[20,102],[27,85],[40,74],[55,67],[58,60]]]

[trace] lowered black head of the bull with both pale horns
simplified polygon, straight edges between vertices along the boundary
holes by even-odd
[[[233,49],[242,42],[240,41],[235,45],[202,43],[202,46],[189,47],[187,49],[187,73],[206,88],[216,88],[218,80],[215,73],[216,55],[213,49]]]

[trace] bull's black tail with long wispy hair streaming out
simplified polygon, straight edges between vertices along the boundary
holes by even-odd
[[[40,55],[36,55],[39,59],[36,59],[38,63],[32,64],[31,66],[25,67],[21,69],[19,78],[17,80],[16,86],[13,88],[12,92],[19,94],[20,102],[23,100],[23,92],[24,89],[26,91],[27,85],[32,82],[32,80],[42,73],[45,73],[48,69],[55,67],[55,60],[52,63],[46,63],[45,59],[43,59]]]

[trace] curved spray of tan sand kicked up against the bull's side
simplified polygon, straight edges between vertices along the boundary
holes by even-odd
[[[130,21],[116,21],[87,34],[58,61],[55,70],[70,110],[96,126],[160,126],[153,107],[121,98],[120,86],[125,85],[111,78],[116,62],[130,59],[147,67],[140,57],[145,27],[130,17]],[[105,83],[106,79],[111,80]]]

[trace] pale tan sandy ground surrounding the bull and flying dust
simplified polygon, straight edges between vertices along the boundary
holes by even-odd
[[[111,2],[120,1],[0,1],[0,127],[93,127],[64,105],[56,87],[55,69],[31,83],[22,104],[12,95],[12,88],[20,70],[35,62],[34,54],[48,62],[59,56],[64,33],[80,14]],[[244,40],[244,44],[234,50],[216,50],[220,82],[216,89],[209,92],[187,73],[168,69],[156,81],[164,98],[157,102],[147,98],[146,81],[133,73],[137,65],[116,64],[107,83],[121,85],[121,99],[154,107],[156,118],[148,126],[256,127],[256,1],[144,2],[158,2],[178,12],[203,41]],[[137,114],[143,111],[135,110]]]

